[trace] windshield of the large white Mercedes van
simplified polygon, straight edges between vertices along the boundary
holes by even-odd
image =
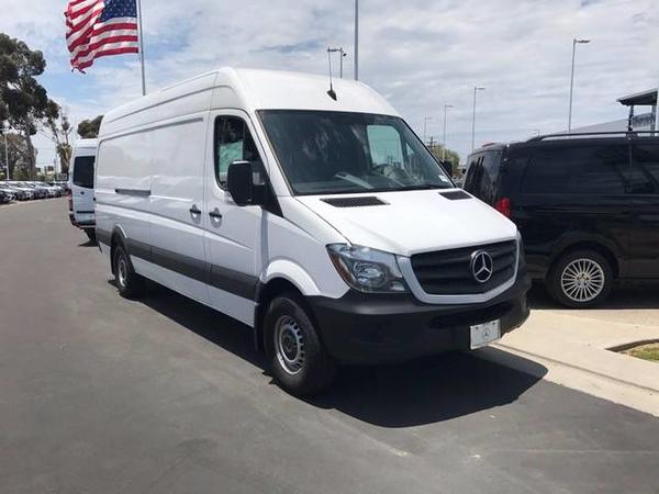
[[[293,110],[259,114],[297,194],[455,187],[401,119]]]

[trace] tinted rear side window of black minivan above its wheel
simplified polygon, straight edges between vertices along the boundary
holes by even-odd
[[[629,170],[626,145],[545,147],[534,153],[524,191],[624,194]]]

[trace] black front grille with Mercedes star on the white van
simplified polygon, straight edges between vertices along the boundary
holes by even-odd
[[[485,283],[474,280],[471,255],[484,250],[492,257],[492,277]],[[515,274],[517,242],[437,250],[412,256],[412,269],[424,292],[432,295],[470,295],[487,293]]]

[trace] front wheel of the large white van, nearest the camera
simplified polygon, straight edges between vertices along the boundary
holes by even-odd
[[[309,396],[332,384],[336,362],[325,351],[313,318],[295,293],[284,293],[270,302],[264,329],[272,375],[284,391]]]

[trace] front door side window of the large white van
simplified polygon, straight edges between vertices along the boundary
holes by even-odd
[[[215,178],[226,186],[228,166],[234,161],[259,161],[258,150],[245,121],[238,116],[215,119]]]

